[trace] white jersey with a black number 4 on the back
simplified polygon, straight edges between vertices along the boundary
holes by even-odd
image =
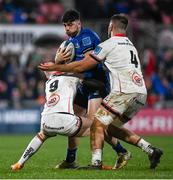
[[[99,44],[91,56],[104,61],[112,92],[147,94],[137,50],[127,37],[109,38]]]

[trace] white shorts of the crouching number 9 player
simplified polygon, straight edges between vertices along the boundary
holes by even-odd
[[[41,118],[41,130],[48,136],[57,134],[75,136],[81,129],[82,121],[69,113],[44,114]]]

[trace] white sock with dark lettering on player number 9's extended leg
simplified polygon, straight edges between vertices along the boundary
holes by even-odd
[[[18,163],[24,164],[43,144],[37,136],[35,136],[31,142],[28,144]]]

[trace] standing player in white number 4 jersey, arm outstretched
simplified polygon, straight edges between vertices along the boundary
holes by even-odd
[[[99,44],[95,50],[82,61],[67,65],[45,65],[40,69],[46,71],[83,72],[104,62],[109,71],[111,92],[102,101],[95,114],[91,128],[92,161],[88,168],[99,169],[102,166],[102,148],[104,132],[113,136],[117,129],[119,136],[128,143],[140,147],[150,160],[150,168],[154,169],[160,162],[163,152],[151,146],[137,134],[124,130],[122,125],[128,122],[145,104],[147,91],[141,72],[138,53],[133,43],[126,37],[128,19],[123,14],[111,17],[108,35],[110,38]]]

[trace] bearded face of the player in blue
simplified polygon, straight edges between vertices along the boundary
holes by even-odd
[[[80,21],[64,23],[64,28],[65,28],[65,32],[68,36],[74,37],[79,33],[79,31],[81,29],[81,23],[80,23]]]

